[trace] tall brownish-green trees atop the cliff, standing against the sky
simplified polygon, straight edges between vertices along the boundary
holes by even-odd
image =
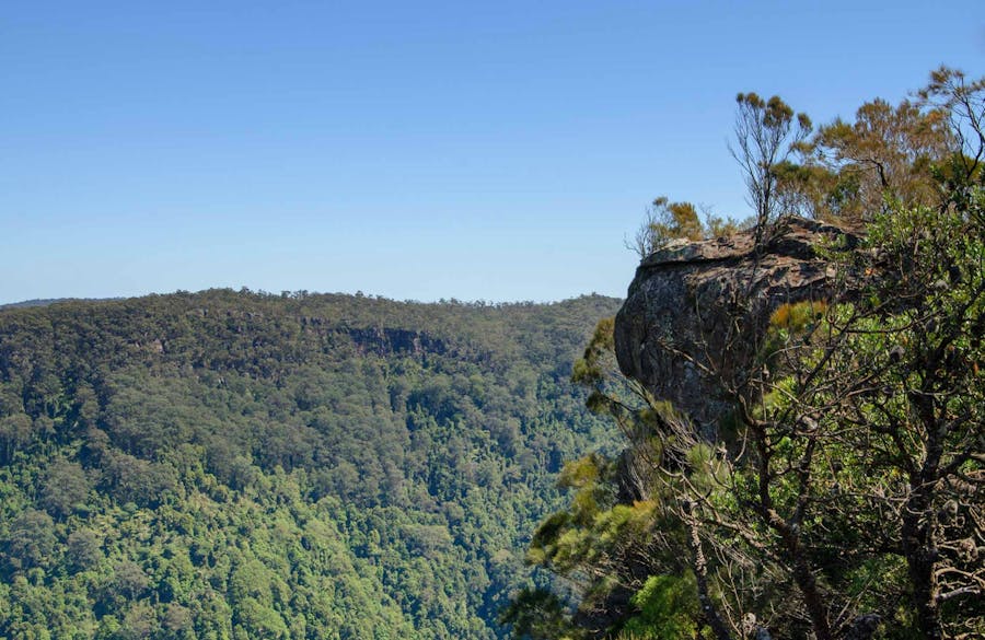
[[[762,221],[802,216],[861,230],[893,202],[938,207],[981,179],[985,81],[954,69],[935,70],[914,100],[872,100],[810,138],[779,98],[738,103],[733,155]]]

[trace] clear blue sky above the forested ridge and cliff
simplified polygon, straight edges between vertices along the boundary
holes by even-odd
[[[879,4],[5,2],[0,303],[623,295],[654,196],[746,214],[737,92],[985,73],[975,2]]]

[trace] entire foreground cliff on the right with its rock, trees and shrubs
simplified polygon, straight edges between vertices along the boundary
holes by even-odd
[[[940,68],[818,129],[777,96],[737,105],[754,219],[653,202],[627,302],[575,366],[623,449],[564,468],[528,559],[566,589],[521,591],[503,620],[536,640],[985,638],[985,79]],[[696,268],[667,287],[681,255],[703,288]]]

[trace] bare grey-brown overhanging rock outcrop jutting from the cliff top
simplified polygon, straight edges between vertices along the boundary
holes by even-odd
[[[708,432],[728,406],[720,381],[749,366],[773,311],[831,298],[834,269],[815,247],[838,237],[858,242],[836,226],[795,219],[760,255],[751,231],[674,241],[651,254],[616,315],[619,369]]]

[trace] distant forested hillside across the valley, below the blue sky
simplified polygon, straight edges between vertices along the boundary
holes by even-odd
[[[0,637],[501,637],[618,304],[0,310]]]

